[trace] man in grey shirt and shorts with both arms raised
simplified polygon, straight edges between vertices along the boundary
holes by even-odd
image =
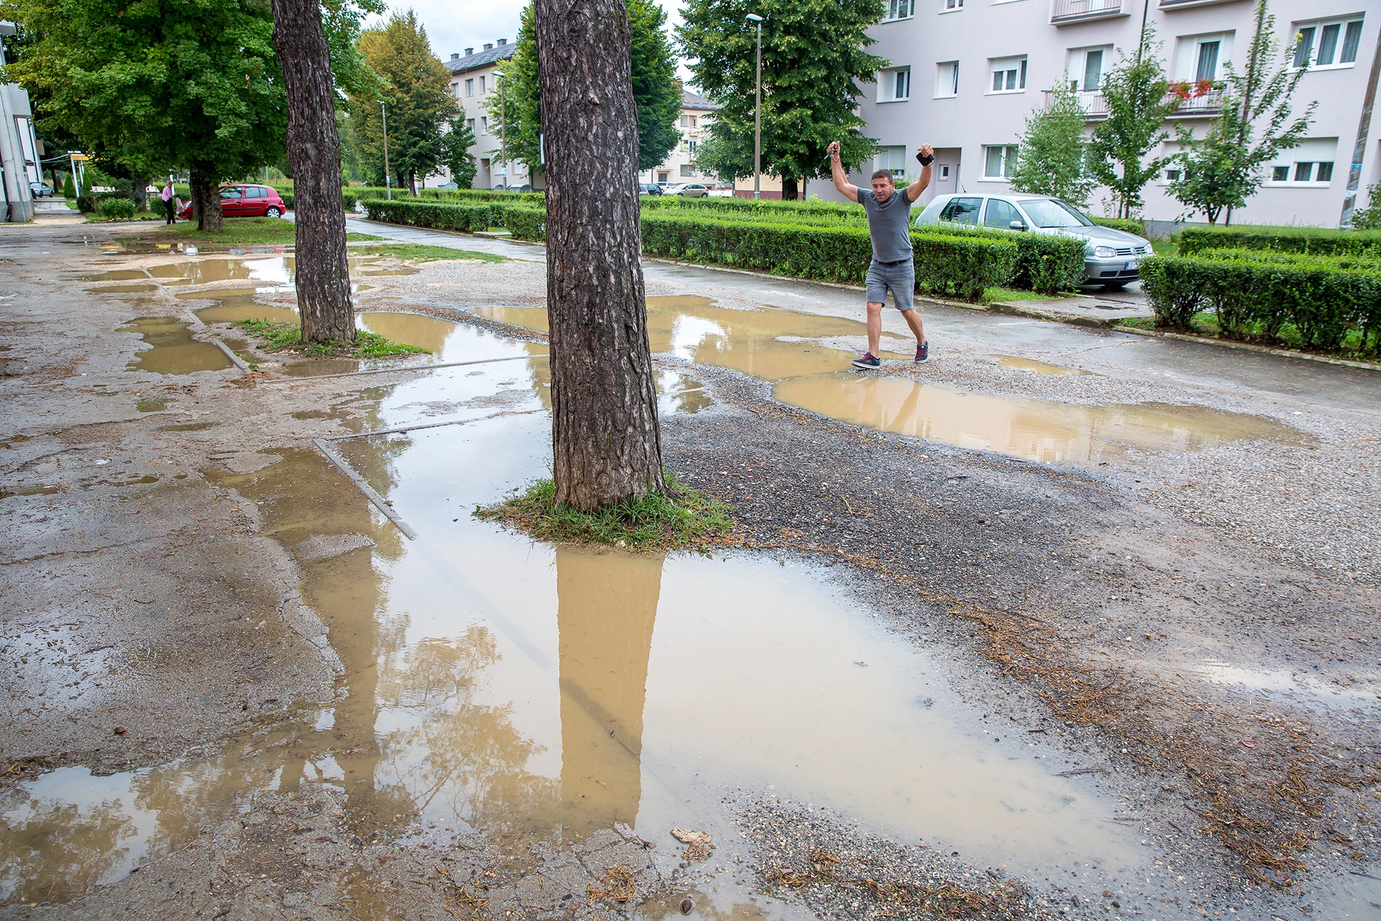
[[[892,303],[902,311],[906,325],[916,333],[916,361],[925,361],[931,354],[931,343],[925,339],[921,314],[916,310],[916,266],[911,250],[911,205],[931,184],[931,163],[935,151],[929,144],[916,148],[916,159],[921,163],[921,176],[898,191],[891,170],[873,173],[873,188],[859,188],[848,181],[844,165],[840,163],[840,142],[830,144],[830,173],[834,188],[851,202],[858,202],[867,212],[869,236],[873,239],[873,261],[867,267],[867,351],[853,360],[855,368],[878,368],[878,340],[882,336],[882,303],[887,292],[892,292]]]

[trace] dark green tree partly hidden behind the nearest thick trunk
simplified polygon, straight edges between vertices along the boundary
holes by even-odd
[[[632,29],[632,101],[638,106],[638,169],[650,170],[681,141],[681,84],[666,33],[667,14],[655,0],[627,0]],[[504,130],[508,158],[540,169],[541,93],[533,7],[523,7],[518,47],[503,65],[503,93],[489,97],[489,116]]]

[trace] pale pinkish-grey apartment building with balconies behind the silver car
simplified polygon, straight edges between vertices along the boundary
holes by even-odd
[[[1195,84],[1221,80],[1229,61],[1240,66],[1254,7],[1253,0],[887,0],[887,19],[870,29],[877,39],[870,50],[891,64],[860,101],[866,131],[882,148],[873,169],[914,176],[913,151],[929,142],[936,162],[927,201],[1003,191],[1026,116],[1050,102],[1052,87],[1076,89],[1090,129],[1106,116],[1103,79],[1121,51],[1135,53],[1143,18],[1156,29],[1170,77]],[[1311,101],[1317,108],[1308,140],[1280,152],[1233,221],[1337,227],[1351,196],[1366,205],[1366,187],[1381,181],[1381,118],[1367,115],[1377,91],[1381,7],[1375,0],[1271,0],[1269,11],[1282,46],[1300,35],[1309,51],[1297,58],[1308,72],[1295,109]],[[1201,137],[1219,104],[1215,90],[1192,95],[1171,122]],[[1171,136],[1160,151],[1174,149]],[[1168,194],[1174,177],[1167,169],[1146,187],[1146,217],[1184,214]],[[822,198],[837,194],[822,189]],[[1110,213],[1110,199],[1108,189],[1095,191],[1090,210]]]

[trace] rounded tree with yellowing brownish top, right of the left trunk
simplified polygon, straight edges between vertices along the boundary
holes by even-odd
[[[360,165],[373,178],[384,174],[384,124],[388,106],[388,167],[400,187],[417,194],[417,177],[445,162],[445,126],[460,109],[450,94],[450,72],[427,41],[417,14],[395,12],[383,26],[359,37],[365,64],[377,75],[373,86],[349,93]]]

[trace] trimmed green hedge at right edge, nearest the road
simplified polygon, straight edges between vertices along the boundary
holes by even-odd
[[[1163,326],[1188,329],[1196,313],[1210,311],[1228,339],[1293,344],[1283,336],[1290,326],[1308,348],[1337,351],[1349,333],[1359,353],[1381,346],[1381,270],[1371,260],[1155,256],[1141,278]]]

